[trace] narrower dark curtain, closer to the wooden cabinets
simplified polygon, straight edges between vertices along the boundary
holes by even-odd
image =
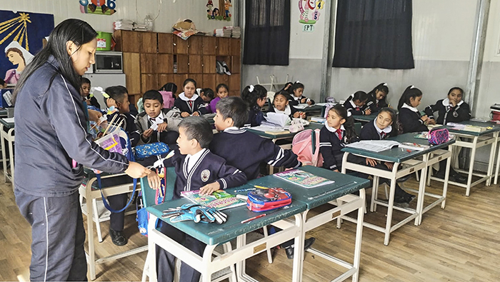
[[[288,66],[290,1],[246,0],[243,64]]]

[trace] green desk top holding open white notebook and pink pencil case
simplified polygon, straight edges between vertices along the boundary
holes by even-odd
[[[393,140],[393,141],[398,141],[399,143],[403,142],[411,142],[411,143],[418,143],[421,145],[429,145],[429,141],[426,139],[416,139],[415,136],[418,133],[407,133],[407,134],[401,134],[396,137],[391,137],[387,140]],[[401,163],[403,161],[407,161],[411,158],[416,158],[417,156],[422,156],[426,153],[429,153],[431,151],[435,151],[440,148],[445,148],[446,146],[449,146],[451,144],[455,143],[455,140],[448,141],[446,143],[442,143],[439,145],[433,145],[430,148],[424,150],[424,151],[407,151],[406,148],[399,148],[399,147],[394,147],[391,148],[390,150],[386,151],[381,151],[381,152],[374,152],[374,151],[366,151],[363,149],[359,148],[343,148],[342,151],[344,152],[349,152],[349,153],[354,153],[356,155],[368,157],[368,158],[377,158],[383,161],[392,161],[394,163]]]

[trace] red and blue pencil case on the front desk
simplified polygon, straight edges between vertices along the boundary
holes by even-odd
[[[257,189],[248,193],[246,207],[250,211],[271,211],[291,204],[291,194],[283,188]]]

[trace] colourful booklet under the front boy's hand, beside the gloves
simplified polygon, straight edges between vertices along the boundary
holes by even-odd
[[[224,190],[217,190],[211,195],[201,196],[199,190],[195,191],[181,191],[181,196],[189,199],[193,203],[199,203],[202,206],[216,208],[221,211],[226,208],[234,208],[235,206],[246,205],[245,201],[236,198],[236,196],[227,193]]]

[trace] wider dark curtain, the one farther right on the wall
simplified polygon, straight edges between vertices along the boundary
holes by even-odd
[[[334,67],[414,69],[411,0],[339,0]]]

